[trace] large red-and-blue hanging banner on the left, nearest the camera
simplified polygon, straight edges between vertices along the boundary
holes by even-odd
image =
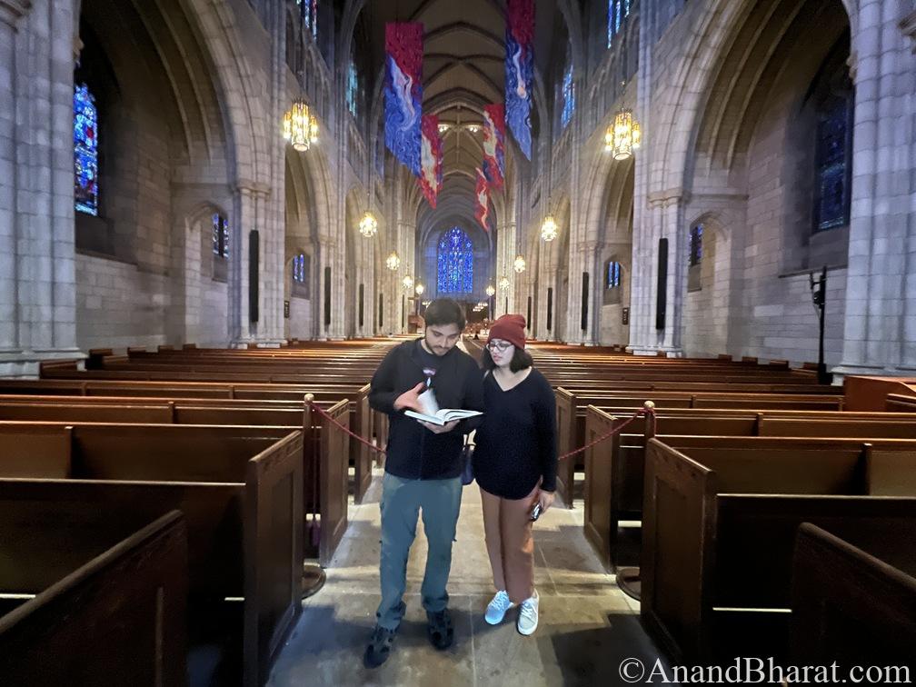
[[[423,25],[385,25],[385,145],[420,176]]]

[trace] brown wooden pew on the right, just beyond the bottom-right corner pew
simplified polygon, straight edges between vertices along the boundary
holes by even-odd
[[[856,538],[879,526],[916,540],[916,452],[881,491],[886,453],[791,448],[690,456],[650,440],[643,514],[641,617],[677,663],[788,656],[791,558],[802,522]],[[878,471],[880,472],[880,471]]]

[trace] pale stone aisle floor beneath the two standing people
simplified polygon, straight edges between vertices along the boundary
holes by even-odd
[[[366,670],[362,654],[378,604],[380,491],[376,474],[364,503],[351,506],[350,527],[327,570],[327,583],[304,603],[271,674],[272,687],[616,685],[627,683],[619,677],[623,660],[638,659],[651,670],[658,649],[639,625],[638,603],[617,589],[584,539],[581,501],[573,510],[551,508],[535,526],[537,632],[519,635],[514,610],[498,627],[485,623],[494,590],[476,485],[464,488],[453,549],[453,647],[439,652],[426,639],[419,594],[426,540],[420,522],[408,569],[408,611],[395,649],[381,668]]]

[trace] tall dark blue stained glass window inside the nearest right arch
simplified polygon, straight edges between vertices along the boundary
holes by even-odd
[[[848,100],[835,99],[824,108],[817,125],[817,189],[814,231],[849,224]]]

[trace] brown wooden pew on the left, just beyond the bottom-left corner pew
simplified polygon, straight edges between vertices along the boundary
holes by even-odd
[[[23,456],[37,453],[23,474]],[[183,512],[191,644],[244,657],[244,682],[258,685],[301,610],[301,456],[302,432],[288,428],[0,422],[0,495],[54,500],[68,522],[86,504],[125,524]]]

